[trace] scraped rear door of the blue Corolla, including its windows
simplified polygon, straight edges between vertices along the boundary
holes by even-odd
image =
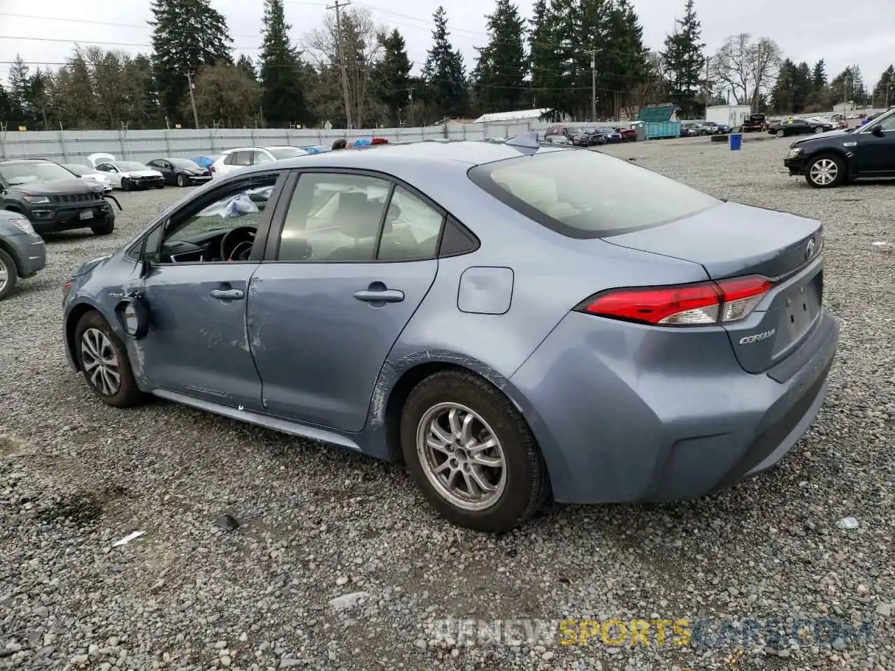
[[[362,174],[299,179],[249,297],[268,412],[363,428],[382,364],[438,270],[443,213],[391,186]]]

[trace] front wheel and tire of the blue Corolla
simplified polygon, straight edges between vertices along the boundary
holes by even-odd
[[[115,408],[132,408],[146,396],[133,378],[127,349],[96,311],[81,317],[74,331],[75,355],[93,393]]]

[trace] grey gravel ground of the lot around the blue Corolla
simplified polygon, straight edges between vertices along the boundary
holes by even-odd
[[[170,403],[100,403],[64,362],[65,276],[183,191],[123,194],[112,236],[55,237],[48,268],[0,304],[0,668],[895,669],[895,256],[873,245],[895,242],[895,184],[809,189],[783,171],[787,146],[606,150],[826,225],[842,336],[813,428],[779,469],[718,495],[553,505],[499,538],[437,519],[399,465]],[[225,514],[240,526],[220,528]],[[857,529],[836,526],[847,516]],[[790,634],[467,646],[433,624],[566,617]],[[855,628],[791,637],[818,618]]]

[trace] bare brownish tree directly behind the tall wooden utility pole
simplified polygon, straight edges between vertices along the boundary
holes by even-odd
[[[380,37],[385,36],[386,28],[377,26],[367,9],[347,9],[342,13],[341,22],[345,70],[348,74],[348,103],[351,106],[354,127],[363,128],[364,119],[371,115],[371,105],[374,104],[368,99],[367,89],[374,66],[381,54]],[[327,14],[323,20],[323,27],[312,30],[304,38],[304,47],[316,64],[318,72],[334,74],[338,72],[338,40],[334,14]],[[331,77],[324,77],[323,80],[331,81]],[[338,80],[336,82],[338,83]],[[325,101],[325,108],[329,109],[332,107],[330,93],[327,90],[317,97],[320,102]],[[325,114],[320,106],[318,111]]]

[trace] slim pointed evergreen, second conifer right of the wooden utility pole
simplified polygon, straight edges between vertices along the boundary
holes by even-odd
[[[466,88],[466,72],[463,55],[448,40],[447,13],[439,5],[432,15],[432,47],[422,68],[422,77],[429,89],[429,97],[442,116],[465,115],[469,92]]]

